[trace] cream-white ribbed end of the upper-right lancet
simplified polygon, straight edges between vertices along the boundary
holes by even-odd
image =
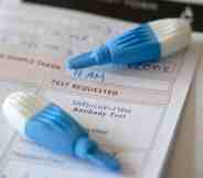
[[[184,19],[161,19],[149,25],[161,45],[161,57],[177,53],[191,43],[192,29]]]

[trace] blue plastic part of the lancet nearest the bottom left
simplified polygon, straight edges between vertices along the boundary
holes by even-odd
[[[100,150],[88,133],[71,115],[50,104],[29,119],[25,134],[35,143],[62,155],[71,155],[99,167],[119,171],[120,164],[110,154]]]

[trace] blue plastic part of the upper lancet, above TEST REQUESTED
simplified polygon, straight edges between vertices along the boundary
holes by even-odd
[[[68,59],[67,69],[103,64],[140,64],[160,59],[160,43],[148,24],[141,24],[106,42],[99,48]]]

